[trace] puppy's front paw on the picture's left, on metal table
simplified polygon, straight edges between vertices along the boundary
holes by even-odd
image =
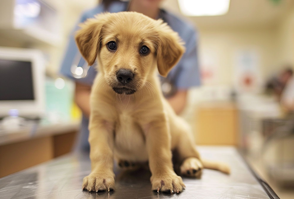
[[[96,192],[114,190],[114,174],[91,173],[84,177],[82,189]]]

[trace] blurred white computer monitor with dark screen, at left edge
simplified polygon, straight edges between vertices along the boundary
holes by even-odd
[[[29,48],[0,47],[0,117],[10,109],[20,116],[40,117],[44,106],[44,56]]]

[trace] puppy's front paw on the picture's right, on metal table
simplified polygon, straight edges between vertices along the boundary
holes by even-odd
[[[173,174],[164,174],[158,176],[151,176],[152,190],[162,192],[181,192],[185,187],[180,176]]]

